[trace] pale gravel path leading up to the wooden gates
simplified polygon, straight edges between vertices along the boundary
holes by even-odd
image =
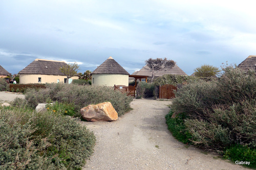
[[[95,152],[87,169],[247,169],[186,146],[167,130],[170,101],[134,99],[115,122],[80,122],[94,131]]]

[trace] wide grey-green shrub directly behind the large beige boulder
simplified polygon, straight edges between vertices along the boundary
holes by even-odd
[[[48,100],[63,104],[74,104],[76,112],[91,104],[111,102],[118,116],[130,110],[131,96],[102,86],[79,86],[76,84],[48,84],[46,89],[28,90],[25,94],[28,105],[35,108]]]

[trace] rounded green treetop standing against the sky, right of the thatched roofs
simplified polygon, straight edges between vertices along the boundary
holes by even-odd
[[[194,69],[196,77],[207,77],[216,76],[221,70],[218,67],[204,64]]]

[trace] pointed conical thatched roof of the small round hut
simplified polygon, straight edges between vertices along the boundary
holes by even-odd
[[[98,66],[91,74],[118,74],[129,75],[121,65],[119,65],[112,57],[109,57],[100,66]]]

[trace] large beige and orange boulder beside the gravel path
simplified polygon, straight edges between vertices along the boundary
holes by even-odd
[[[118,118],[117,112],[110,102],[89,105],[82,108],[80,111],[83,119],[92,122],[96,120],[113,121]]]

